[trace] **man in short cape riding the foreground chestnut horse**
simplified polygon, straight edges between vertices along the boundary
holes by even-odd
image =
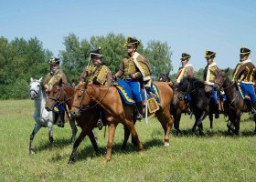
[[[119,71],[112,76],[112,81],[123,76],[123,80],[131,87],[133,98],[136,102],[138,116],[137,119],[143,119],[143,104],[140,94],[140,82],[144,82],[144,87],[148,88],[152,85],[152,74],[149,62],[146,58],[136,52],[140,42],[135,38],[128,36],[124,47],[127,47],[128,56],[123,57]]]

